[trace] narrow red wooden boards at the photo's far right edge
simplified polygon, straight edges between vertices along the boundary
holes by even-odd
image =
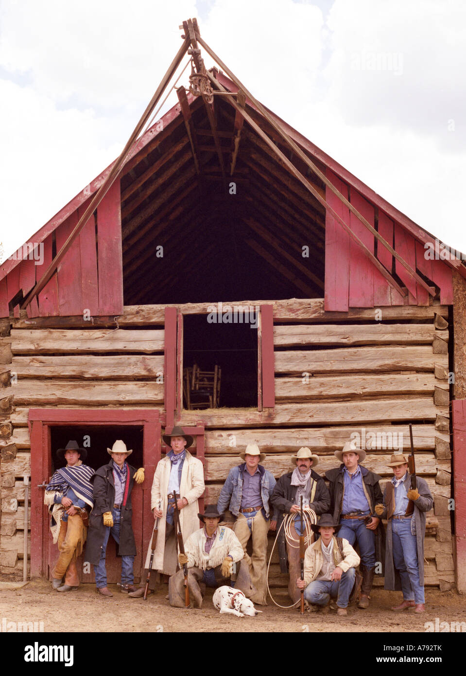
[[[451,402],[457,589],[466,592],[466,400]]]

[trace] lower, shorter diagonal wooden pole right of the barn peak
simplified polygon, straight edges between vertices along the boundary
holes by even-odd
[[[222,90],[226,91],[224,89],[224,87],[222,86],[222,84],[219,84],[219,82],[217,82],[217,80],[215,80],[215,78],[213,78],[210,73],[208,73],[208,76],[209,76],[209,79],[211,80],[211,82],[215,83],[217,87],[221,88],[221,91]],[[234,100],[233,97],[226,96],[225,98],[228,101],[228,103],[230,103],[230,105],[232,105],[234,107],[235,110],[240,110],[239,107],[238,107],[238,104],[236,103],[236,101]],[[247,122],[249,122],[249,124],[257,132],[257,134],[259,134],[259,136],[265,141],[265,143],[267,143],[267,145],[269,145],[269,147],[271,147],[271,149],[278,155],[278,157],[282,160],[282,162],[284,162],[284,164],[286,164],[286,166],[288,167],[290,172],[292,172],[292,174],[294,176],[296,176],[296,178],[298,178],[298,180],[300,180],[301,183],[303,183],[303,185],[314,195],[314,197],[317,198],[317,200],[322,204],[322,206],[325,207],[326,210],[328,210],[328,212],[330,212],[330,214],[332,214],[332,216],[335,218],[335,220],[337,220],[338,223],[340,223],[340,225],[342,226],[344,231],[346,233],[348,233],[348,235],[351,237],[351,239],[353,239],[355,242],[357,242],[359,244],[359,246],[361,247],[361,249],[363,249],[367,258],[369,258],[369,260],[371,260],[373,265],[376,266],[376,268],[380,271],[380,273],[388,281],[390,286],[392,286],[394,289],[396,289],[396,291],[398,291],[398,293],[400,293],[400,295],[405,297],[407,295],[407,293],[405,293],[405,291],[403,291],[403,289],[400,287],[400,285],[398,285],[398,283],[396,283],[396,281],[393,279],[392,275],[389,272],[387,272],[386,268],[384,268],[384,266],[377,260],[377,258],[373,255],[373,253],[371,251],[369,251],[369,249],[366,247],[366,245],[363,243],[363,241],[361,241],[361,239],[359,239],[359,237],[357,237],[357,235],[355,235],[355,233],[353,233],[351,228],[344,222],[344,220],[340,216],[338,216],[336,211],[326,202],[325,199],[323,199],[321,197],[321,195],[319,195],[319,193],[317,193],[317,191],[315,190],[313,185],[311,185],[311,183],[309,183],[309,180],[307,180],[307,178],[305,178],[305,176],[303,176],[303,174],[301,174],[296,169],[296,167],[292,164],[292,162],[290,162],[290,160],[288,160],[288,158],[286,158],[286,156],[282,153],[282,151],[280,151],[280,149],[278,149],[278,147],[276,147],[274,142],[271,141],[271,139],[269,139],[269,137],[267,137],[265,132],[263,132],[263,130],[259,127],[259,125],[257,125],[254,122],[254,120],[251,118],[251,116],[249,116],[249,114],[247,114],[247,112],[245,110],[242,112],[242,114],[244,115],[244,118],[247,120]],[[338,194],[340,195],[340,193],[338,193]],[[353,211],[355,211],[354,207],[353,207]],[[360,219],[363,218],[360,214],[358,214],[358,216],[359,216]],[[372,226],[369,226],[369,227],[373,230]],[[376,231],[374,230],[374,233],[375,232]],[[378,233],[377,233],[377,236],[380,237],[380,235]],[[391,247],[390,247],[390,249],[391,249]],[[393,249],[391,249],[391,250],[392,250],[392,254],[394,254],[399,259],[400,256],[398,256],[398,254],[396,254],[396,251],[394,251]],[[403,264],[405,266],[407,265],[407,264],[405,264],[404,261],[403,261]],[[427,287],[429,289],[429,292],[432,294],[432,290],[430,289],[430,287],[428,287],[428,285],[423,280],[421,280],[419,275],[416,274],[415,277],[416,277],[416,279],[419,279],[419,281],[422,282],[422,285]]]

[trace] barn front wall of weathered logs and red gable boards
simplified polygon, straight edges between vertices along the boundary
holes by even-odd
[[[222,87],[237,91],[228,78],[218,72],[215,76]],[[180,103],[138,141],[121,179],[37,299],[21,309],[109,168],[30,239],[45,245],[41,265],[20,250],[17,260],[0,268],[0,573],[19,574],[23,568],[30,411],[144,409],[158,410],[163,424],[197,427],[200,435],[205,430],[200,443],[207,502],[217,500],[228,471],[240,462],[239,452],[251,442],[267,453],[264,464],[278,478],[289,470],[290,456],[302,445],[317,453],[317,471],[324,473],[336,466],[334,450],[342,448],[351,433],[364,434],[365,465],[386,480],[391,476],[386,463],[392,451],[383,448],[384,441],[390,445],[403,435],[406,452],[407,424],[413,423],[417,471],[435,498],[428,514],[426,583],[450,589],[455,584],[455,546],[466,536],[466,512],[456,511],[456,539],[452,537],[449,502],[455,448],[450,404],[455,396],[466,398],[466,267],[456,259],[426,260],[424,243],[432,239],[428,233],[275,118],[416,270],[418,281],[377,245],[373,234],[361,229],[328,185],[296,160],[328,205],[394,276],[403,297],[334,216],[305,195],[253,129],[242,127],[238,115],[230,114],[226,102],[215,101],[218,127],[213,129],[201,99],[179,97]],[[284,149],[251,102],[245,110]],[[223,149],[202,145],[212,139],[224,139]],[[222,183],[222,154],[230,162],[234,158],[231,180],[239,186],[244,183],[241,208],[235,206],[234,211],[244,228],[238,231],[238,242],[257,258],[251,259],[255,265],[263,266],[259,270],[263,274],[257,268],[249,274],[247,289],[257,293],[247,295],[246,287],[238,287],[235,301],[261,308],[259,402],[257,408],[183,410],[183,318],[207,315],[211,304],[186,301],[189,293],[183,287],[177,297],[170,268],[154,274],[154,248],[183,235],[178,254],[188,285],[199,269],[192,267],[191,259],[199,266],[199,260],[215,258],[215,245],[201,240],[200,248],[196,246],[225,216],[220,201],[211,209],[212,186]],[[203,202],[206,190],[209,199]],[[307,224],[314,244],[310,259],[301,256]],[[227,232],[218,228],[219,241]],[[274,286],[275,298],[265,296],[261,286],[261,277],[271,269],[281,275]],[[215,293],[215,279],[212,274],[203,299],[211,297],[216,303],[224,288],[219,286]],[[303,297],[292,297],[290,289]],[[192,300],[199,300],[197,295]],[[240,300],[244,297],[262,299]],[[465,416],[458,409],[458,431],[466,425]],[[372,438],[382,448],[371,448]],[[458,433],[457,439],[459,453],[464,435]],[[463,471],[458,458],[455,470]],[[150,485],[151,472],[145,491]],[[34,485],[31,489],[34,522],[43,518],[45,508],[41,489]],[[30,556],[30,544],[28,551]],[[271,584],[285,584],[277,561],[271,567]]]

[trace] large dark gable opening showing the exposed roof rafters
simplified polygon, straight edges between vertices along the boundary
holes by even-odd
[[[124,304],[323,297],[323,207],[225,99],[214,97],[215,124],[206,106],[186,99],[125,165]]]

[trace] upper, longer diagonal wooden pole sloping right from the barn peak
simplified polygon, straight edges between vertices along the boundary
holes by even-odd
[[[409,274],[411,274],[411,276],[413,276],[415,281],[417,281],[417,283],[419,283],[426,291],[428,291],[428,293],[430,293],[430,295],[432,295],[432,289],[430,289],[429,285],[426,284],[425,281],[423,281],[423,279],[416,273],[416,271],[413,270],[413,268],[411,268],[411,266],[409,266],[407,264],[407,262],[405,262],[405,260],[403,260],[403,258],[401,258],[401,256],[399,256],[396,253],[396,251],[390,246],[390,244],[381,235],[379,235],[379,233],[376,231],[376,229],[373,228],[371,226],[371,224],[363,216],[361,216],[361,214],[357,211],[357,209],[355,209],[355,207],[350,202],[348,202],[348,200],[342,195],[342,193],[340,193],[340,191],[338,191],[336,189],[336,187],[330,182],[330,180],[328,180],[326,175],[323,174],[323,172],[321,172],[321,170],[319,170],[319,168],[314,164],[314,162],[312,162],[312,160],[310,160],[307,157],[307,155],[303,152],[303,150],[299,147],[299,145],[297,145],[288,136],[288,134],[286,134],[286,132],[284,132],[284,130],[280,127],[280,125],[277,124],[277,122],[274,120],[274,118],[271,117],[271,115],[265,109],[265,107],[263,107],[263,105],[261,105],[261,103],[259,103],[259,101],[257,101],[257,99],[255,99],[255,97],[253,97],[253,95],[246,89],[246,87],[244,87],[244,85],[240,82],[240,80],[238,80],[238,78],[236,78],[236,76],[234,76],[234,74],[230,71],[228,66],[226,66],[219,59],[219,57],[217,57],[217,55],[213,52],[213,50],[209,47],[209,45],[207,45],[205,43],[205,41],[203,41],[200,34],[197,35],[197,39],[199,40],[199,43],[201,43],[201,45],[207,51],[207,53],[209,53],[209,55],[217,62],[217,64],[220,66],[220,68],[223,68],[223,70],[226,72],[226,74],[228,74],[228,76],[232,79],[234,84],[236,84],[236,87],[238,87],[238,89],[242,89],[242,91],[244,91],[244,93],[247,95],[247,97],[249,97],[249,99],[253,102],[255,107],[257,107],[257,110],[259,110],[259,112],[263,115],[265,120],[267,120],[267,122],[269,122],[269,124],[280,134],[282,139],[284,139],[285,143],[294,151],[294,153],[296,153],[296,155],[298,155],[298,157],[301,160],[303,160],[303,162],[305,162],[305,164],[307,164],[307,166],[309,166],[309,168],[312,169],[313,172],[315,174],[317,174],[317,176],[319,176],[320,180],[323,181],[323,183],[328,187],[328,189],[331,190],[338,197],[338,199],[340,199],[342,201],[342,203],[344,203],[344,205],[356,216],[356,218],[358,218],[358,220],[360,220],[361,223],[363,223],[363,225],[365,225],[365,227],[373,234],[373,236],[376,237],[380,241],[380,243],[382,243],[382,245],[384,245],[384,247],[386,247],[386,249],[388,249],[388,251],[390,251],[390,254],[392,254],[392,256],[394,256],[396,258],[396,260],[398,260],[398,262],[400,262],[400,264],[402,264],[403,267],[406,268],[406,270],[409,272]],[[215,78],[213,76],[211,76],[210,73],[209,73],[209,78],[210,78],[211,82],[216,82],[217,87],[219,87],[220,91],[224,91],[224,92],[228,91],[223,87],[222,84],[220,84],[217,80],[215,80]],[[233,97],[228,97],[228,96],[226,96],[226,99],[230,103],[231,103],[231,101],[234,100]],[[251,124],[251,122],[250,122],[250,124]],[[264,139],[264,140],[266,140],[266,139]],[[269,139],[267,137],[267,141],[268,140]],[[283,155],[283,158],[285,160],[287,159],[287,158],[285,158],[284,155]],[[293,166],[291,164],[291,162],[290,162],[290,165]],[[313,194],[314,193],[315,193],[315,191],[313,191]],[[314,196],[317,197],[317,194],[314,194]],[[317,199],[319,199],[319,201],[321,201],[323,206],[326,206],[326,208],[329,208],[328,204],[326,203],[326,200],[321,198],[320,195],[319,195],[319,198],[317,198]],[[336,212],[334,212],[333,210],[332,210],[332,216],[334,216],[334,217],[337,216]],[[340,220],[338,222],[340,222]],[[359,240],[359,238],[358,238],[358,240]],[[361,242],[361,240],[359,240],[359,245],[364,246],[363,243]],[[372,257],[372,258],[375,260],[375,257]],[[382,272],[382,270],[380,270],[380,272]],[[384,273],[382,272],[382,274],[384,274]],[[392,278],[392,276],[390,275],[391,281],[388,278],[386,278],[386,279],[387,279],[387,281],[390,282],[390,285],[392,287],[394,287],[394,283],[396,284],[396,282],[394,282],[394,279]],[[394,288],[396,288],[396,287],[394,287]],[[396,290],[399,292],[399,287]],[[404,295],[404,294],[402,293],[401,295]]]

